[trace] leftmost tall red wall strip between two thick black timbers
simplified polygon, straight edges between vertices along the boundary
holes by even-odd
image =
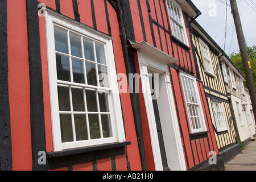
[[[15,5],[15,6],[14,6]],[[31,170],[30,78],[25,1],[7,1],[9,100],[13,170]]]

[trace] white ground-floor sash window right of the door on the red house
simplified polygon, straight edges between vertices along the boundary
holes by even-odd
[[[183,93],[187,105],[188,118],[191,132],[205,131],[205,123],[202,113],[201,101],[197,89],[196,80],[193,77],[181,74]]]

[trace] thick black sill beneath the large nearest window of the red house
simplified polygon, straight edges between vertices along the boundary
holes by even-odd
[[[108,143],[97,146],[72,148],[57,152],[48,152],[49,169],[73,166],[94,160],[111,158],[125,154],[125,146],[131,142]]]

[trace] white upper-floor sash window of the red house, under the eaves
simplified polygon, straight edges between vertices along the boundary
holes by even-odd
[[[187,35],[185,34],[185,25],[181,7],[172,0],[167,0],[168,12],[171,20],[172,35],[184,44],[187,44]]]

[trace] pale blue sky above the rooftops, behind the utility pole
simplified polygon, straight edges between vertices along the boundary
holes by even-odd
[[[227,11],[225,0],[192,0],[192,2],[202,13],[196,21],[208,32],[210,37],[227,55],[233,52],[237,53],[240,49],[229,0],[227,0]],[[237,0],[237,5],[247,46],[256,46],[256,0]]]

